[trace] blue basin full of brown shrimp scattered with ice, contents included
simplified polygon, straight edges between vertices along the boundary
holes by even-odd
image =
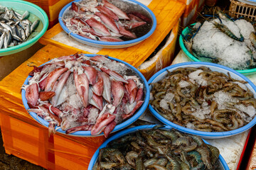
[[[149,110],[182,132],[216,139],[237,135],[256,123],[256,86],[220,64],[184,62],[148,81]]]

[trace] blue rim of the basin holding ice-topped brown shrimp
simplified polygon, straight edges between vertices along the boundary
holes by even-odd
[[[238,77],[241,77],[242,79],[247,81],[248,84],[252,87],[252,89],[256,93],[256,86],[255,86],[255,84],[252,83],[252,81],[250,81],[250,79],[248,79],[244,75],[240,74],[239,72],[237,72],[233,69],[230,69],[229,67],[225,67],[223,65],[215,64],[215,63],[211,63],[211,62],[183,62],[183,63],[171,65],[169,67],[161,69],[159,72],[156,72],[156,74],[154,74],[154,76],[149,79],[148,84],[150,84],[152,81],[154,81],[154,79],[156,79],[156,77],[158,77],[160,74],[162,74],[163,72],[166,72],[166,70],[173,69],[173,68],[178,68],[180,66],[186,66],[186,65],[189,66],[191,64],[198,65],[198,66],[206,66],[206,67],[209,65],[209,66],[219,67],[221,69],[225,69],[228,72],[233,72],[233,74],[237,74]],[[149,86],[149,89],[150,88],[151,87]],[[232,136],[232,135],[238,135],[241,132],[245,132],[245,130],[249,130],[256,123],[256,116],[255,116],[255,118],[253,118],[250,121],[250,123],[248,123],[247,125],[242,126],[241,128],[235,129],[235,130],[230,130],[230,131],[225,131],[225,132],[202,132],[202,131],[199,131],[199,130],[192,130],[192,129],[185,128],[183,126],[177,125],[175,123],[172,123],[171,121],[167,120],[166,118],[161,116],[159,113],[157,113],[154,110],[154,108],[151,106],[151,104],[149,104],[149,111],[151,111],[151,113],[158,120],[160,120],[162,123],[164,123],[166,125],[169,125],[169,126],[175,128],[177,130],[180,130],[182,132],[186,132],[186,133],[189,133],[189,134],[192,134],[192,135],[198,135],[198,136],[201,136],[201,137],[210,137],[210,139],[220,138],[220,137],[228,137],[228,136]]]

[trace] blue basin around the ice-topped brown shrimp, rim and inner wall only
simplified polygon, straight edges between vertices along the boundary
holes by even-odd
[[[223,72],[226,75],[229,72],[230,76],[233,77],[234,79],[247,81],[248,83],[245,84],[245,85],[247,86],[248,89],[250,89],[250,91],[252,91],[252,93],[254,94],[254,97],[256,97],[256,86],[255,86],[255,84],[252,83],[252,81],[250,81],[250,79],[247,79],[247,77],[240,74],[239,72],[236,72],[233,69],[230,69],[230,68],[225,67],[225,66],[220,65],[220,64],[214,64],[214,63],[210,63],[210,62],[183,62],[183,63],[180,63],[180,64],[171,65],[169,67],[161,69],[159,72],[154,74],[154,76],[151,77],[151,79],[149,79],[148,83],[151,84],[151,83],[155,83],[157,81],[160,81],[161,79],[164,79],[164,77],[167,74],[167,70],[169,72],[172,72],[174,69],[178,69],[179,67],[208,67],[212,71]],[[151,90],[151,86],[149,86],[149,89]],[[230,131],[225,131],[225,132],[202,132],[202,131],[198,131],[198,130],[192,130],[192,129],[189,129],[189,128],[185,128],[183,126],[172,123],[171,121],[167,120],[166,118],[161,116],[159,113],[157,113],[154,110],[154,108],[151,106],[151,104],[149,104],[149,111],[151,111],[151,113],[158,120],[160,120],[162,123],[164,123],[166,125],[169,125],[169,126],[175,128],[176,130],[180,130],[181,132],[186,132],[186,133],[189,133],[191,135],[198,135],[198,136],[201,136],[201,137],[206,138],[206,139],[218,139],[218,138],[238,135],[241,132],[245,132],[246,130],[249,130],[256,123],[256,117],[255,117],[250,121],[250,123],[248,123],[245,126],[242,126],[241,128],[238,128],[236,130],[230,130]]]

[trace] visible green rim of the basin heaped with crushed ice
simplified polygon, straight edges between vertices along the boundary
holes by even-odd
[[[191,24],[191,26],[194,26],[195,24],[196,23],[193,23],[193,24]],[[182,30],[182,35],[186,36],[188,33],[189,33],[188,27],[186,27],[184,30]],[[179,37],[179,44],[181,46],[181,50],[183,50],[183,52],[185,52],[186,56],[188,56],[188,58],[193,62],[206,62],[206,61],[198,60],[198,58],[196,58],[195,56],[193,56],[193,54],[188,52],[188,50],[186,49],[186,46],[184,45],[184,39],[183,39],[182,35],[180,35],[180,37]],[[241,74],[244,74],[244,75],[250,75],[250,74],[256,73],[256,68],[255,69],[243,69],[243,70],[236,69],[235,71],[240,72]]]

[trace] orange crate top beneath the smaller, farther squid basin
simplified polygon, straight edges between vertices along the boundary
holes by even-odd
[[[175,24],[178,23],[179,18],[183,14],[185,4],[178,1],[163,0],[159,3],[158,0],[152,0],[148,7],[156,16],[156,30],[149,38],[132,47],[114,50],[90,47],[68,37],[68,34],[63,31],[59,23],[48,30],[39,42],[43,45],[52,44],[64,49],[73,49],[84,53],[107,54],[111,57],[124,60],[124,62],[128,62],[134,67],[139,67],[154,52],[160,42],[174,28]],[[57,37],[60,37],[60,40],[56,40]],[[65,40],[63,40],[64,37]],[[66,41],[67,39],[68,41]]]

